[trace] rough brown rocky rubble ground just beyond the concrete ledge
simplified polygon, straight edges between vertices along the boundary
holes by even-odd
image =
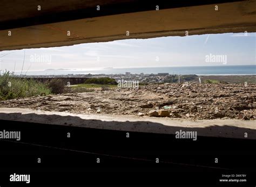
[[[90,93],[66,93],[0,102],[73,113],[124,114],[184,119],[256,119],[256,84],[161,84]]]

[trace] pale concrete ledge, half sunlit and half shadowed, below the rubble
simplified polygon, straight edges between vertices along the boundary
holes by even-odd
[[[41,124],[100,128],[132,132],[175,134],[176,131],[197,131],[198,136],[256,139],[253,120],[215,119],[184,120],[171,118],[120,116],[105,114],[75,114],[68,112],[35,111],[30,109],[0,108],[0,119]]]

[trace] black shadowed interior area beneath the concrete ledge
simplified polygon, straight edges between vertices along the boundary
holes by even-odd
[[[1,120],[3,130],[20,131],[21,140],[0,139],[1,187],[256,183],[255,140],[199,136],[193,141],[172,134]],[[30,182],[11,182],[14,174],[29,174]]]

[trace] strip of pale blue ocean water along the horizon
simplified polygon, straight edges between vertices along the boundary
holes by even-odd
[[[68,75],[68,74],[196,74],[196,75],[256,75],[256,65],[247,66],[193,66],[193,67],[145,67],[104,68],[99,70],[47,70],[28,71],[26,75]],[[16,72],[19,74],[19,72]]]

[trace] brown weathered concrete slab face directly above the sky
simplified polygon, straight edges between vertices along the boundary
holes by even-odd
[[[121,39],[256,32],[256,0],[123,13],[0,31],[0,51]],[[8,35],[11,31],[11,36]],[[67,32],[70,31],[70,36]],[[129,35],[127,35],[129,31]]]

